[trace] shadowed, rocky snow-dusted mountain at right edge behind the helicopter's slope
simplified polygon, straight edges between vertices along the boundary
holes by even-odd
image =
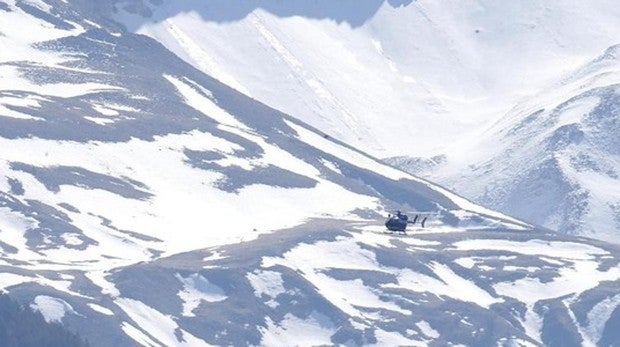
[[[620,243],[620,46],[435,160],[392,158],[486,206]]]

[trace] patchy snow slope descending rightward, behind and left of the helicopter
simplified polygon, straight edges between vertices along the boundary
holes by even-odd
[[[30,248],[53,241],[142,254],[160,240],[168,252],[183,251],[313,216],[351,218],[398,204],[446,211],[446,220],[449,210],[487,213],[250,100],[148,38],[92,29],[37,47],[64,61],[2,68],[10,111],[0,119],[5,206],[22,210],[17,225],[44,233],[62,226],[74,236],[49,231],[19,240]],[[282,207],[287,213],[273,216]],[[50,213],[49,221],[36,217]],[[98,232],[79,235],[81,228],[68,223],[74,219]],[[221,239],[201,232],[217,234],[229,220],[235,228],[220,232]],[[137,229],[150,237],[140,239]],[[136,243],[107,235],[124,231]]]

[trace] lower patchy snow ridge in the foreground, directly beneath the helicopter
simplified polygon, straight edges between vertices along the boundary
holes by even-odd
[[[11,291],[64,302],[63,323],[101,346],[618,345],[615,246],[381,229],[317,220],[105,278],[73,271],[79,295],[28,282]]]

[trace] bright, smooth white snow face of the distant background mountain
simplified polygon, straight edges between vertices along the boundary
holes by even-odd
[[[151,18],[119,18],[233,88],[383,157],[442,153],[620,37],[613,0],[352,4],[338,14],[270,3],[220,20],[244,9],[166,0]]]

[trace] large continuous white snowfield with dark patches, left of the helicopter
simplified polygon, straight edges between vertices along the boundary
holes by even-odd
[[[250,136],[250,135],[246,135]],[[252,135],[252,139],[258,139]],[[145,183],[154,198],[150,201],[126,199],[105,191],[88,191],[93,199],[83,199],[84,189],[63,187],[58,193],[48,191],[40,182],[28,175],[20,175],[28,182],[26,197],[48,201],[52,205],[61,202],[79,206],[82,213],[69,212],[75,224],[80,226],[89,237],[99,242],[99,247],[88,255],[84,252],[50,250],[55,259],[60,261],[76,260],[88,256],[101,259],[102,256],[114,255],[119,259],[135,261],[148,257],[146,247],[162,248],[167,253],[192,250],[222,243],[238,242],[256,237],[253,229],[269,231],[291,227],[306,218],[321,215],[347,216],[355,208],[376,208],[375,198],[352,193],[331,181],[323,180],[312,166],[297,159],[273,145],[264,143],[267,151],[263,162],[283,165],[289,170],[310,175],[319,184],[312,189],[279,189],[265,185],[244,188],[239,194],[229,194],[216,189],[212,183],[219,174],[208,173],[189,167],[184,163],[182,150],[219,149],[224,153],[231,151],[230,144],[210,134],[194,132],[185,135],[170,135],[155,142],[132,140],[129,143],[88,143],[57,142],[47,140],[6,140],[0,139],[6,151],[6,162],[24,161],[36,166],[78,166],[94,172],[106,172],[117,177],[133,177]],[[45,150],[42,150],[45,149]],[[23,153],[31,153],[28,158]],[[122,155],[119,155],[121,154]],[[157,153],[157,154],[155,154]],[[285,161],[283,161],[285,160]],[[110,163],[122,163],[111,166]],[[299,169],[296,169],[299,168]],[[0,162],[0,169],[10,170]],[[159,172],[158,175],[150,175]],[[22,178],[20,177],[20,179]],[[293,203],[303,196],[304,205]],[[178,201],[184,201],[183,206]],[[262,201],[261,204],[254,203]],[[273,214],[287,206],[284,215]],[[227,220],[243,214],[247,218],[239,220],[234,229],[224,228]],[[165,243],[134,240],[124,242],[118,234],[99,225],[98,218],[106,216],[114,220],[118,228],[125,230],[149,230],[149,236],[164,240]],[[5,221],[10,219],[4,219]],[[21,227],[23,231],[24,227]],[[175,229],[184,233],[184,237],[171,234]],[[209,230],[205,237],[202,230]],[[15,230],[7,228],[6,232]],[[16,230],[12,233],[18,233]],[[11,238],[12,245],[27,249],[24,239]],[[38,256],[24,254],[24,260],[34,260]]]

